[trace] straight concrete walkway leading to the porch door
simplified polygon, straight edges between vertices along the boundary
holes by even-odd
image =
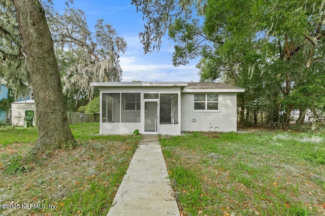
[[[107,216],[179,216],[172,193],[158,137],[143,135]]]

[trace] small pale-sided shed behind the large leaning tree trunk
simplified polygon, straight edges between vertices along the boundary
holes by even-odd
[[[17,126],[24,126],[24,117],[26,110],[34,110],[36,113],[35,100],[24,100],[11,103],[11,123]],[[34,116],[32,125],[36,125],[36,117]]]

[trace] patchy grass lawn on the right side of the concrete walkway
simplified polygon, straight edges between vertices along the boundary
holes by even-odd
[[[325,135],[187,133],[160,143],[183,215],[324,215]]]

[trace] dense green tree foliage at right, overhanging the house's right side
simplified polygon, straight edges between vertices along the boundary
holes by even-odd
[[[292,109],[322,108],[322,99],[317,108],[293,103],[291,93],[323,78],[325,1],[132,2],[147,21],[139,35],[144,52],[159,49],[168,32],[175,42],[175,66],[199,57],[201,81],[223,80],[246,89],[238,97],[242,121],[244,111],[246,123],[250,116],[257,122],[261,112],[267,122],[287,124]],[[322,89],[323,83],[313,88]],[[309,94],[324,97],[316,92]]]

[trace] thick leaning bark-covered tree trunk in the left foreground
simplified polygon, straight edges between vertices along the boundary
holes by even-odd
[[[39,136],[33,154],[76,144],[68,124],[60,74],[45,11],[38,0],[13,0],[36,102]]]

